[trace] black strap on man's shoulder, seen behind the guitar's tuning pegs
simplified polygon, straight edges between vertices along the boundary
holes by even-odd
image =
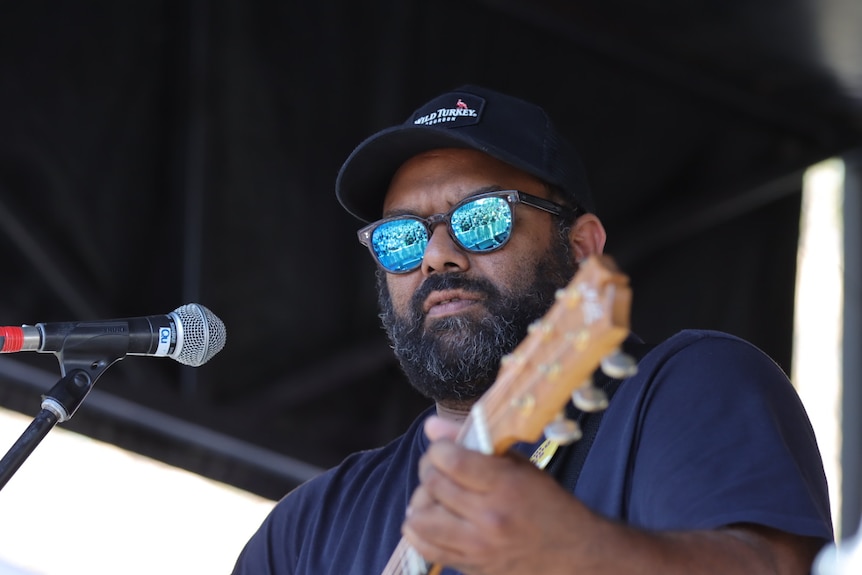
[[[654,344],[629,340],[623,345],[623,351],[632,356],[635,361],[640,361],[653,347],[655,347]],[[608,376],[601,369],[597,369],[593,374],[593,385],[607,394],[608,402],[613,399],[614,393],[616,393],[623,381],[625,380]],[[575,491],[575,485],[578,484],[578,478],[581,475],[581,469],[584,467],[584,461],[586,461],[590,447],[593,445],[593,440],[599,432],[599,425],[602,423],[603,414],[604,411],[593,413],[581,411],[572,403],[566,406],[566,416],[578,422],[583,435],[580,440],[574,443],[560,446],[548,463],[546,471],[553,475],[560,485],[565,487],[570,493]]]

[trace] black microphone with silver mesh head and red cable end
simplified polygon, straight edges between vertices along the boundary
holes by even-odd
[[[190,303],[165,315],[0,327],[0,353],[99,350],[102,344],[112,350],[118,338],[125,339],[128,355],[170,357],[197,367],[221,351],[227,332],[213,312]]]

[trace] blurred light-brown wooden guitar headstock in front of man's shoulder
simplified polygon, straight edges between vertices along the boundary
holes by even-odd
[[[503,358],[497,380],[479,400],[493,451],[534,442],[572,393],[591,384],[602,358],[629,333],[631,289],[608,256],[581,262],[548,313]]]

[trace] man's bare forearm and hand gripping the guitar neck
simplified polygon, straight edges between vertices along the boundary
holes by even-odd
[[[604,519],[523,457],[457,445],[459,427],[429,418],[431,447],[404,536],[428,561],[467,575],[523,573],[803,574],[822,545],[738,524],[648,532]]]

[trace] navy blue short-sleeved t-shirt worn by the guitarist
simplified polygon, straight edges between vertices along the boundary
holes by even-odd
[[[425,417],[285,496],[234,575],[379,575],[418,483]],[[644,529],[756,523],[832,538],[823,466],[795,390],[757,348],[718,332],[681,332],[641,359],[603,416],[575,495]]]

